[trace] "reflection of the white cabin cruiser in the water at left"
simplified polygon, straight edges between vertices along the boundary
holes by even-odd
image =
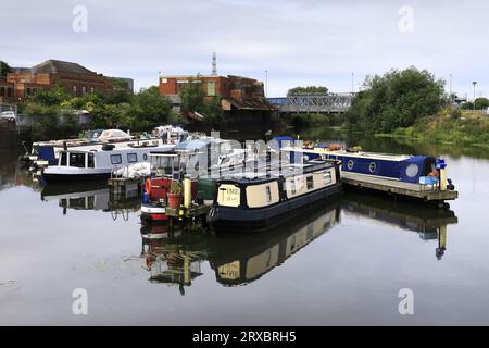
[[[58,200],[63,215],[66,215],[68,210],[98,210],[110,212],[113,220],[121,215],[125,221],[129,219],[130,213],[139,211],[141,203],[138,191],[128,192],[124,197],[114,196],[104,182],[49,184],[42,188],[41,200]]]

